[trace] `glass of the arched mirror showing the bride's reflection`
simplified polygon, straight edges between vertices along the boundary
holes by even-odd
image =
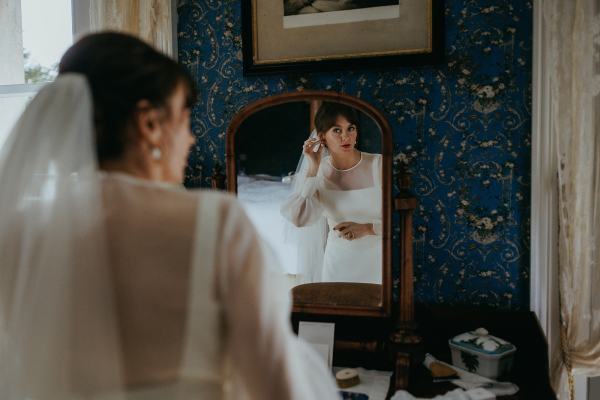
[[[341,103],[323,102],[314,121],[309,108],[289,103],[244,121],[236,134],[239,199],[291,285],[381,284],[379,128]]]

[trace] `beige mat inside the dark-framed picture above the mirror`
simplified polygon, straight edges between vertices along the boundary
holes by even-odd
[[[281,0],[252,0],[254,62],[308,61],[431,50],[431,0],[401,0],[397,18],[285,29]]]

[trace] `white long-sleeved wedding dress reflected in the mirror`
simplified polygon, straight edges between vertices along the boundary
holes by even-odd
[[[381,155],[361,153],[360,161],[340,170],[329,156],[317,176],[306,178],[281,207],[282,215],[297,227],[319,224],[325,218],[321,282],[382,282]],[[333,230],[341,222],[372,223],[375,235],[346,240]]]

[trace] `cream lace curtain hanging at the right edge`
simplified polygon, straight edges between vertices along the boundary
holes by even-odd
[[[560,399],[600,375],[600,0],[542,0],[549,132],[557,144]],[[557,354],[553,354],[557,356]]]

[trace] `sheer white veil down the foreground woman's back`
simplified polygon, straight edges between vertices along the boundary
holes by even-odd
[[[0,151],[0,398],[121,388],[86,79],[59,76]]]

